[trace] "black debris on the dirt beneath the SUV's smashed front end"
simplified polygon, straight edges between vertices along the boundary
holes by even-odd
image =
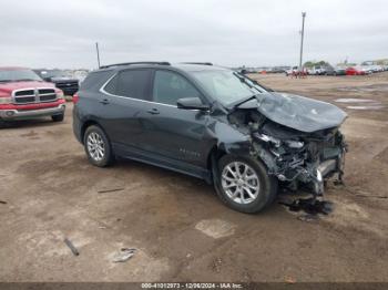
[[[280,201],[279,204],[288,207],[290,211],[305,211],[308,215],[328,215],[333,211],[333,203],[314,198],[298,198],[293,203]]]

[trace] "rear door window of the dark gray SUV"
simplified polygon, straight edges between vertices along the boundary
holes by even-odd
[[[105,86],[105,91],[132,99],[149,100],[150,70],[127,70],[120,72]]]

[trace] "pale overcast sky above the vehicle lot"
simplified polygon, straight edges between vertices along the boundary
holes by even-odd
[[[131,61],[225,66],[388,58],[386,0],[0,0],[0,65]]]

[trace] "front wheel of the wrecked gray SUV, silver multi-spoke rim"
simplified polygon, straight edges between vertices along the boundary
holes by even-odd
[[[255,214],[269,206],[277,194],[277,179],[259,160],[225,155],[218,160],[218,197],[231,208]]]

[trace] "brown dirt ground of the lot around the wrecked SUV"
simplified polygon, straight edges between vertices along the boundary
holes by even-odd
[[[0,131],[0,280],[388,281],[388,73],[252,76],[349,114],[346,186],[329,183],[326,195],[333,214],[307,222],[275,203],[244,215],[195,178],[136,162],[93,167],[68,104],[61,124]],[[112,262],[122,247],[137,252]]]

